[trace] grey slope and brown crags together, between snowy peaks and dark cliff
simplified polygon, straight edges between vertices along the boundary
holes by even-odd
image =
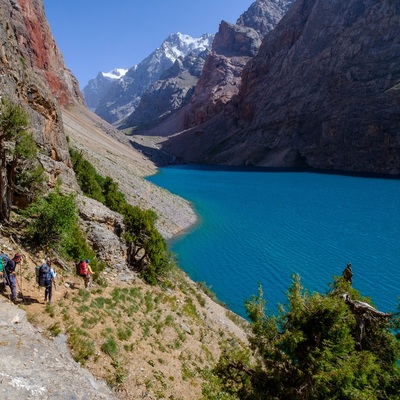
[[[218,112],[237,93],[244,65],[292,2],[258,0],[236,24],[222,21],[211,53],[177,60],[171,72],[166,71],[167,76],[161,76],[143,93],[133,113],[117,124],[118,129],[151,134],[156,127],[157,134],[165,136],[200,123],[202,114],[214,109]]]

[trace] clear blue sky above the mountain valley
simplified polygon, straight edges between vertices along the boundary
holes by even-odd
[[[129,68],[175,32],[216,33],[254,0],[43,0],[67,67],[81,88],[98,72]]]

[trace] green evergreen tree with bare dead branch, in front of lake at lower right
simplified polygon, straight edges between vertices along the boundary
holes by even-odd
[[[360,315],[346,296],[366,307],[361,343]],[[398,319],[359,300],[342,278],[327,294],[310,294],[296,276],[274,316],[260,287],[246,302],[254,353],[221,357],[216,372],[225,390],[243,399],[399,399]]]

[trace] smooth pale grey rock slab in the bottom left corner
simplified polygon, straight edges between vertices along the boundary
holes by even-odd
[[[25,311],[0,297],[0,393],[3,400],[116,399],[105,382],[75,362],[65,335],[45,338]]]

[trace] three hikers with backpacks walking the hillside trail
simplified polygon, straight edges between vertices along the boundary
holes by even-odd
[[[19,303],[21,299],[17,296],[17,266],[22,261],[22,255],[16,253],[12,259],[5,254],[0,254],[0,275],[2,274],[4,288],[7,286],[11,289],[11,301],[15,304]],[[40,266],[36,267],[36,282],[40,287],[44,287],[44,301],[52,302],[53,299],[53,286],[55,286],[55,279],[57,277],[56,269],[52,265],[52,260],[47,258],[43,260]],[[85,289],[88,289],[92,284],[92,268],[90,260],[81,260],[76,263],[76,273],[83,278]]]

